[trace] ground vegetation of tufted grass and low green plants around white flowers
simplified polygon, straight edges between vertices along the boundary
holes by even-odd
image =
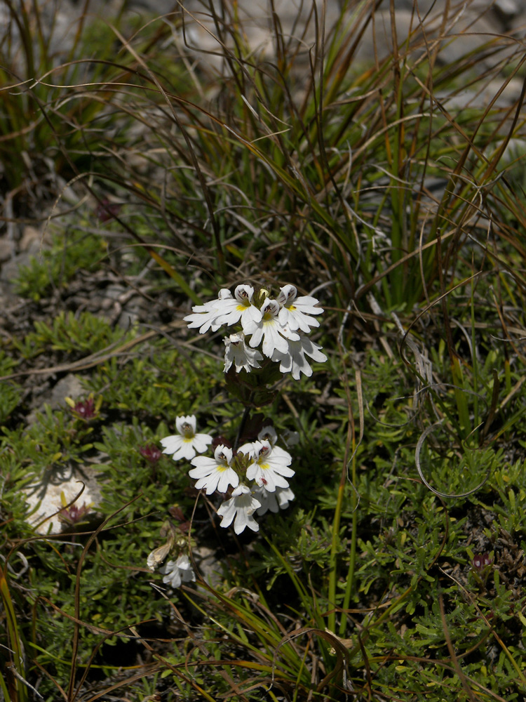
[[[276,20],[269,58],[225,2],[219,73],[177,8],[67,58],[11,13],[3,183],[41,249],[0,314],[4,699],[525,698],[524,91],[473,98],[524,59],[448,63],[415,11],[363,65],[374,6],[323,40],[313,13],[310,51]],[[223,372],[224,327],[183,317],[238,284],[320,300],[312,376]],[[161,453],[189,416],[288,439],[288,508],[222,528]],[[46,534],[29,493],[72,477]],[[195,581],[147,567],[182,552]]]

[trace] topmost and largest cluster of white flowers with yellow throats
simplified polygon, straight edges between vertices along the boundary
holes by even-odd
[[[250,373],[250,369],[261,367],[259,361],[266,356],[280,364],[282,373],[292,373],[295,380],[299,380],[301,373],[311,376],[312,369],[306,356],[318,362],[327,360],[321,346],[306,336],[313,327],[320,326],[318,319],[312,317],[323,312],[318,300],[309,295],[297,297],[293,285],[283,286],[276,300],[266,294],[257,298],[259,307],[251,285],[238,285],[234,295],[229,289],[222,288],[217,300],[194,305],[192,314],[187,314],[184,321],[189,323],[189,329],[199,329],[201,334],[209,329],[217,331],[223,324],[241,324],[243,331],[224,338],[225,373],[232,364],[237,373],[241,369]],[[247,346],[245,337],[249,336]],[[260,344],[262,352],[257,350]]]

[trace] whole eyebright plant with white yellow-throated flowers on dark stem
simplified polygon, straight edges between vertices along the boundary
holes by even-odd
[[[206,496],[216,492],[222,496],[223,502],[217,508],[221,526],[234,524],[236,534],[246,527],[259,531],[254,515],[286,509],[295,498],[288,482],[295,475],[290,468],[292,456],[277,445],[278,435],[270,423],[257,435],[254,431],[252,442],[239,447],[236,444],[246,433],[250,408],[271,402],[276,396],[270,387],[276,380],[285,373],[295,380],[302,373],[311,376],[313,371],[306,357],[317,362],[327,360],[321,346],[308,336],[320,326],[313,315],[322,312],[316,298],[298,297],[297,289],[290,284],[280,289],[276,299],[264,288],[256,293],[250,285],[238,285],[234,294],[221,289],[216,300],[194,305],[191,314],[184,317],[189,329],[198,329],[201,334],[215,332],[223,325],[238,327],[224,337],[224,372],[227,389],[243,402],[245,411],[234,446],[223,436],[213,438],[196,433],[196,417],[190,415],[177,417],[178,433],[161,439],[163,453],[171,454],[174,461],[190,461],[189,476],[196,480],[196,489],[205,491]],[[243,371],[247,380],[236,380]],[[293,444],[284,440],[288,446]],[[210,444],[213,456],[197,455]],[[177,537],[180,528],[171,525],[163,529],[169,535],[168,541],[151,552],[147,565],[154,571],[169,553],[173,555],[175,559],[159,571],[164,576],[163,583],[177,588],[181,583],[194,581],[195,574],[188,545]]]

